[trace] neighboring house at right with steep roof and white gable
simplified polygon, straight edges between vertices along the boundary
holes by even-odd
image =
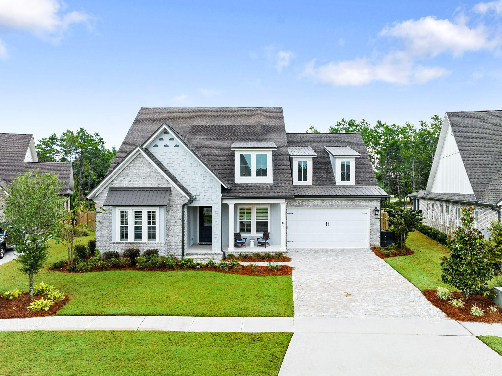
[[[446,112],[425,191],[412,193],[423,223],[445,233],[461,225],[461,208],[474,206],[474,225],[500,219],[502,110]]]

